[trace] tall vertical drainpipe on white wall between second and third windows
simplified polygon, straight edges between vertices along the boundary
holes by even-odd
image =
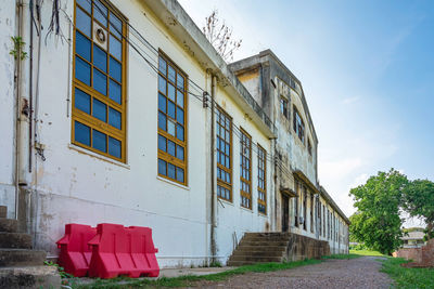
[[[210,254],[212,263],[216,262],[217,246],[216,246],[216,173],[215,173],[215,96],[216,96],[216,76],[210,76]]]

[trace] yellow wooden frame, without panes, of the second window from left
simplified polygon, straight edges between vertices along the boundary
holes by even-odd
[[[166,69],[166,75],[164,75],[162,73],[162,67],[159,67],[161,65],[161,58],[165,62],[165,69]],[[169,71],[169,67],[174,68],[175,70],[175,80],[170,80],[169,76],[168,76],[168,71]],[[179,87],[178,86],[178,75],[181,76],[183,78],[183,86]],[[173,120],[173,122],[175,122],[175,135],[171,135],[168,131],[163,130],[162,128],[159,128],[159,126],[157,124],[157,142],[159,142],[159,136],[165,137],[165,143],[166,143],[166,152],[159,149],[158,145],[157,145],[157,150],[158,150],[158,156],[157,156],[157,161],[159,162],[159,160],[163,160],[166,162],[166,174],[162,174],[159,173],[159,168],[157,168],[157,174],[161,178],[167,179],[171,182],[181,184],[187,186],[188,185],[188,175],[189,175],[189,168],[188,168],[188,159],[189,159],[189,146],[188,146],[188,108],[189,108],[189,103],[188,103],[188,79],[189,76],[181,69],[179,68],[179,66],[166,54],[164,53],[162,50],[158,50],[158,79],[157,79],[157,102],[159,102],[159,94],[165,96],[165,101],[166,101],[166,111],[163,111],[159,109],[159,104],[157,105],[157,118],[159,117],[159,114],[165,115],[166,117],[166,129],[167,129],[167,123]],[[159,90],[159,77],[164,78],[164,80],[166,81],[166,92],[164,93],[163,91]],[[176,101],[171,102],[170,96],[168,95],[168,87],[169,84],[173,84],[173,87],[175,88],[175,97]],[[183,90],[183,91],[182,91]],[[182,101],[182,105],[180,106],[178,103],[178,91],[182,92],[183,95],[183,101]],[[168,113],[168,104],[169,102],[175,104],[175,119],[171,118],[169,116]],[[183,111],[183,126],[181,124],[181,127],[183,128],[183,141],[178,139],[178,130],[177,130],[177,126],[179,123],[178,121],[178,108],[180,110]],[[170,155],[167,150],[168,150],[168,143],[173,142],[175,143],[175,154],[178,154],[178,146],[183,148],[183,159],[178,158],[178,156],[173,156]],[[175,166],[175,179],[170,178],[168,175],[168,167],[169,165]],[[159,166],[157,163],[157,166]],[[178,176],[178,170],[182,169],[183,170],[183,182],[177,180]]]

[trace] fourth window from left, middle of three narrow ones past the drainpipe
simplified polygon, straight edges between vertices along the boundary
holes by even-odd
[[[241,130],[240,142],[241,206],[252,209],[252,137]]]

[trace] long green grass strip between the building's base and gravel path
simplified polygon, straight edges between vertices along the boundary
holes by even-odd
[[[202,275],[202,276],[180,276],[175,278],[162,277],[158,279],[131,279],[131,278],[114,278],[114,279],[97,279],[94,283],[89,285],[73,285],[75,289],[95,289],[95,288],[106,288],[106,289],[118,289],[118,288],[161,288],[161,287],[188,287],[194,281],[207,280],[207,281],[222,281],[229,277],[241,275],[250,272],[255,273],[266,273],[272,271],[289,270],[299,266],[312,265],[321,263],[321,260],[304,260],[295,262],[285,263],[264,263],[255,265],[240,266],[234,270],[225,271],[217,274]]]

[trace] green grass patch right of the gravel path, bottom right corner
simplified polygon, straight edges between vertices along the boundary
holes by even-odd
[[[383,266],[381,272],[391,276],[396,288],[434,288],[434,268],[407,268],[400,266],[407,263],[403,258],[391,258],[381,260]]]

